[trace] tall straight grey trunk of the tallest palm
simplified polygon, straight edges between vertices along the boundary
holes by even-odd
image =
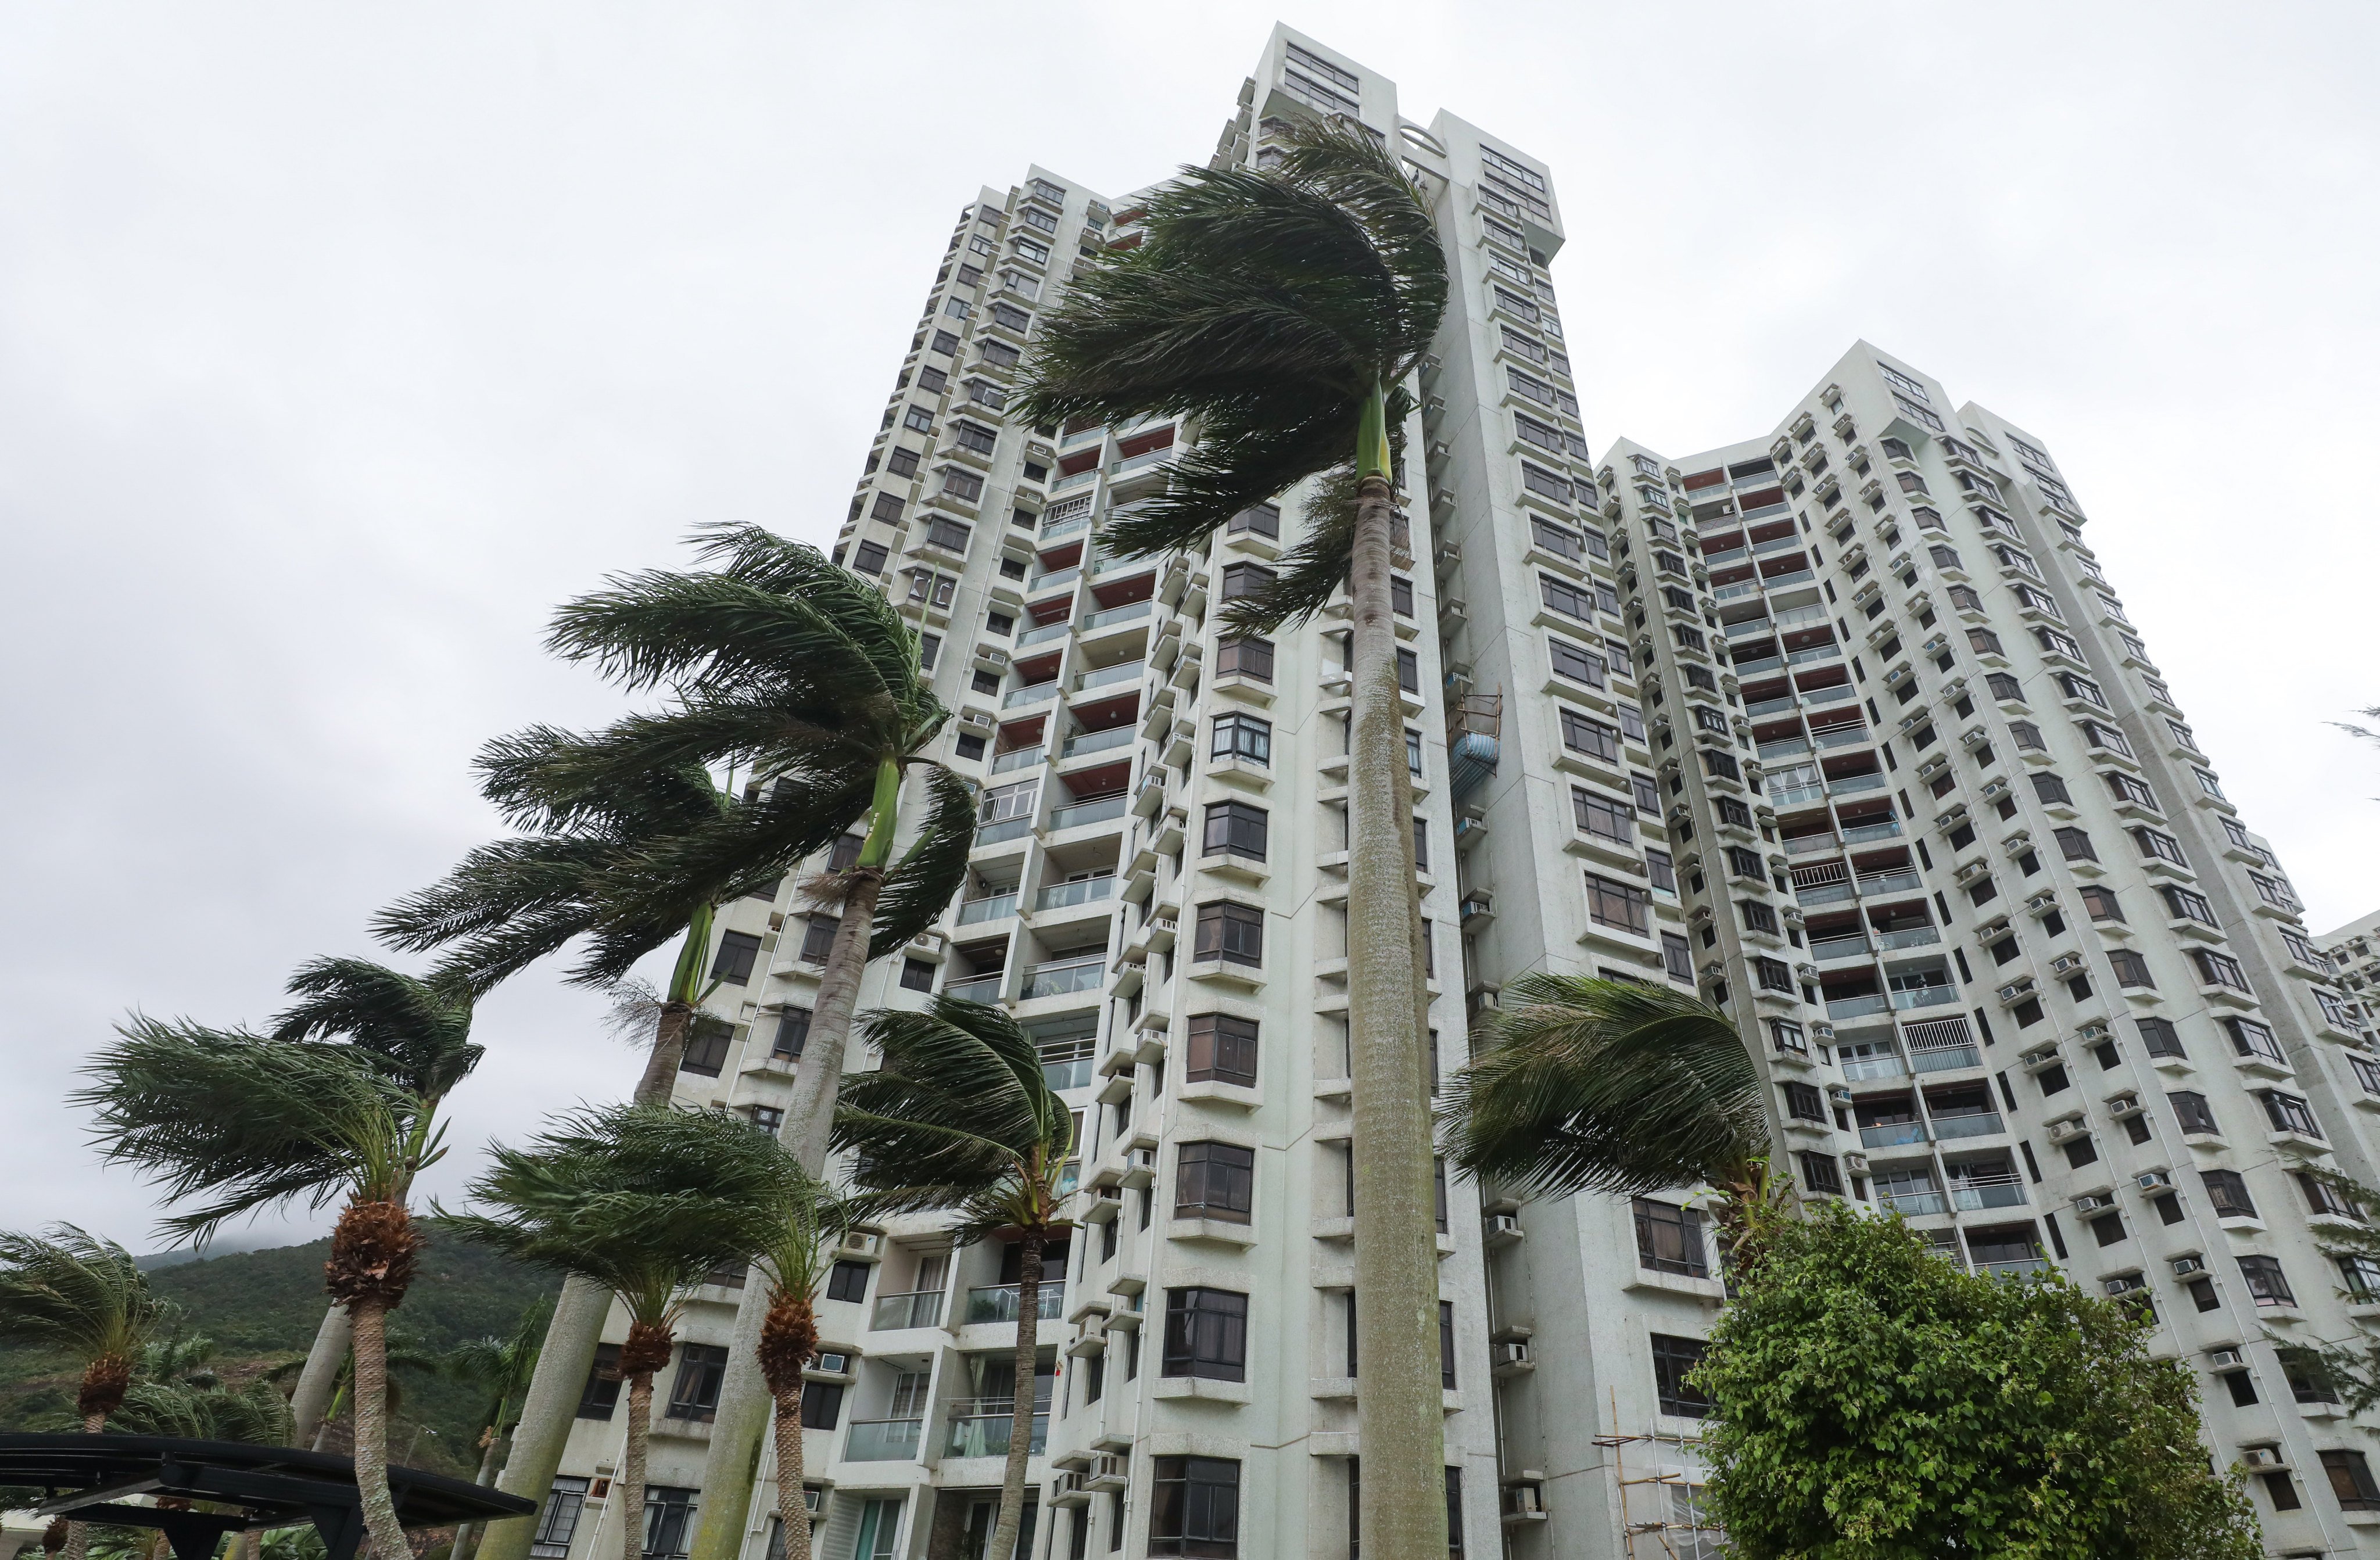
[[[1373,411],[1366,423],[1378,428]],[[1385,447],[1385,433],[1378,435]],[[1357,488],[1347,730],[1347,1034],[1354,1072],[1354,1287],[1364,1296],[1364,1560],[1445,1560],[1438,1203],[1414,782],[1397,697],[1385,459]]]

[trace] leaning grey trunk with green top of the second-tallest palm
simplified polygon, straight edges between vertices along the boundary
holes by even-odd
[[[878,782],[876,823],[869,844],[890,844],[900,806],[900,773]],[[809,1039],[793,1075],[793,1099],[785,1122],[776,1130],[781,1144],[809,1175],[826,1170],[826,1141],[835,1125],[835,1099],[843,1092],[843,1068],[850,1051],[852,1013],[859,1006],[859,977],[869,968],[869,937],[876,930],[876,897],[883,889],[881,854],[862,849],[859,866],[847,873],[843,920],[819,970],[819,999],[809,1011]],[[712,1420],[712,1446],[702,1458],[702,1510],[695,1515],[690,1560],[735,1560],[743,1550],[745,1520],[752,1515],[752,1477],[759,1470],[759,1436],[769,1422],[769,1391],[759,1372],[759,1332],[769,1310],[766,1284],[745,1282],[735,1310],[735,1334],[728,1339],[728,1370],[719,1382],[719,1413]],[[507,1558],[512,1560],[512,1558]],[[521,1558],[526,1560],[526,1555]]]

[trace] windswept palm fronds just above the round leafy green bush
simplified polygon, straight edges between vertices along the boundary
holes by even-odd
[[[1768,1118],[1728,1015],[1633,980],[1523,975],[1440,1101],[1447,1158],[1533,1196],[1761,1196]]]

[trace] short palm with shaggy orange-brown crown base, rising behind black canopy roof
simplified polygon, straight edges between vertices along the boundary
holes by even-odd
[[[174,1203],[202,1199],[164,1220],[174,1237],[205,1241],[295,1199],[343,1201],[324,1289],[352,1329],[355,1482],[374,1548],[400,1555],[386,1317],[421,1253],[407,1199],[445,1156],[438,1103],[481,1049],[466,996],[367,961],[317,961],[290,989],[300,1001],[274,1034],[129,1018],[71,1101],[93,1106],[102,1158],[148,1170]]]

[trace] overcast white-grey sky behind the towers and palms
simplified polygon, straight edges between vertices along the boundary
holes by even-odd
[[[1204,159],[1276,17],[1554,166],[1597,449],[1861,335],[2047,438],[2309,918],[2380,908],[2370,5],[10,0],[0,1225],[145,1248],[60,1108],[107,1025],[369,951],[486,737],[619,709],[550,606],[831,537],[957,207]],[[597,1018],[483,1008],[457,1160],[628,1089]]]

